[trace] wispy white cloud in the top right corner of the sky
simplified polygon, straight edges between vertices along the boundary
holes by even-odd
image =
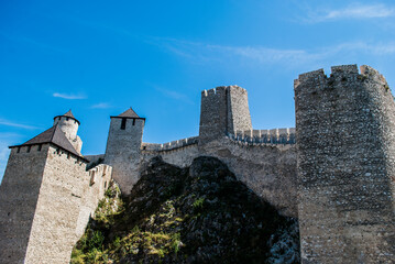
[[[342,9],[310,10],[305,22],[318,23],[345,19],[378,19],[395,15],[395,8],[383,3],[352,4]]]

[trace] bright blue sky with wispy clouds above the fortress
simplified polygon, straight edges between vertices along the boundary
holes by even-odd
[[[198,134],[200,91],[249,91],[253,127],[294,127],[301,73],[367,64],[395,85],[392,1],[0,1],[0,178],[8,146],[72,109],[83,153],[110,116],[146,118],[145,142]]]

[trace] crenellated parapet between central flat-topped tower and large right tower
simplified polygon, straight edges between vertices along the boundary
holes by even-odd
[[[237,131],[235,134],[228,133],[233,141],[251,144],[295,144],[295,128],[272,130],[248,130]]]

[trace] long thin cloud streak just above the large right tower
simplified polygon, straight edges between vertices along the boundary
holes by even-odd
[[[354,55],[386,56],[395,54],[395,42],[370,43],[363,41],[339,43],[318,48],[271,48],[265,46],[228,46],[174,38],[157,38],[156,45],[166,48],[177,56],[189,59],[191,63],[230,63],[243,62],[244,65],[286,65],[300,66],[311,63],[322,63],[327,59],[341,56],[352,58]]]

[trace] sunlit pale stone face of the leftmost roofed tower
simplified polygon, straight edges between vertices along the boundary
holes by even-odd
[[[86,163],[51,145],[42,177],[25,263],[68,263],[89,188]]]

